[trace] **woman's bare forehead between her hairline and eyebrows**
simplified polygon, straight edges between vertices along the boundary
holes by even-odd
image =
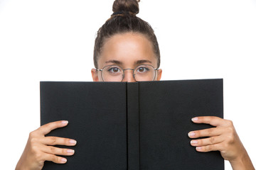
[[[113,60],[119,61],[124,67],[132,67],[139,60],[149,61],[151,63],[147,64],[154,67],[157,63],[151,42],[140,33],[122,33],[108,38],[102,47],[99,67],[104,67]]]

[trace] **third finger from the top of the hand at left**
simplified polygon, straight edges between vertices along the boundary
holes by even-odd
[[[42,148],[41,151],[43,151],[47,154],[58,154],[58,155],[70,156],[75,153],[75,150],[73,150],[73,149],[63,149],[63,148],[58,148],[58,147],[46,146],[46,145],[44,145],[41,148]]]

